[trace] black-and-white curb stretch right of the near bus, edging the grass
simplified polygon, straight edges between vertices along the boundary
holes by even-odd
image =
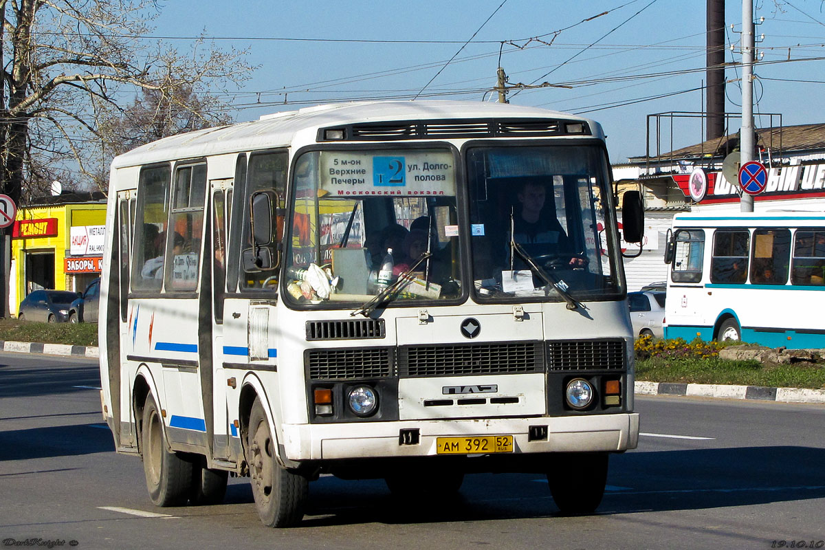
[[[636,395],[671,395],[719,397],[785,403],[825,403],[825,389],[765,388],[762,386],[727,386],[672,382],[636,382]]]

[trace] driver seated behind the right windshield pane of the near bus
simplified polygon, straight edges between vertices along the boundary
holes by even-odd
[[[587,261],[574,256],[572,243],[554,215],[542,215],[546,191],[535,181],[526,181],[516,195],[521,211],[513,219],[513,241],[518,242],[530,256],[560,255],[570,258],[571,267],[583,267]],[[508,232],[509,233],[509,232]],[[509,235],[508,235],[509,237]],[[510,240],[507,239],[507,257]],[[517,259],[517,258],[516,258]],[[514,259],[514,260],[516,260]],[[518,262],[520,266],[523,261]],[[515,266],[514,266],[515,267]]]

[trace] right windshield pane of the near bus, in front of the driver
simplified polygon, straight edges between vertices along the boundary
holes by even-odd
[[[620,291],[602,149],[479,147],[467,153],[473,280],[482,301],[597,299]]]

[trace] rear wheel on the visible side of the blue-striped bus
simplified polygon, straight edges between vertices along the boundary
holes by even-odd
[[[140,436],[144,452],[144,472],[149,498],[156,506],[182,506],[189,500],[192,464],[177,453],[167,451],[163,420],[151,394],[144,405]]]

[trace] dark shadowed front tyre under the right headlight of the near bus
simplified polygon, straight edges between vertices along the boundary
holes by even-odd
[[[607,482],[606,453],[564,453],[551,461],[550,494],[564,515],[592,514]]]

